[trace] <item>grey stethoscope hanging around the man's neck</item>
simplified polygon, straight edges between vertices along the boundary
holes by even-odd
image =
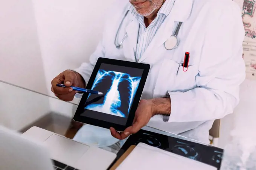
[[[125,33],[125,36],[123,36],[123,39],[120,43],[117,42],[117,36],[120,32],[120,28],[123,24],[123,20],[125,19],[125,17],[127,16],[129,10],[125,13],[121,23],[119,24],[119,27],[117,29],[117,32],[116,32],[116,38],[115,38],[115,46],[117,49],[120,49],[120,47],[122,47],[122,44],[123,44],[123,41],[125,41],[125,38],[127,37],[127,32]],[[176,49],[178,47],[178,39],[177,39],[177,36],[178,36],[178,33],[179,33],[179,30],[180,30],[180,27],[181,27],[181,24],[182,22],[179,22],[177,27],[176,27],[176,30],[174,32],[174,34],[172,34],[172,36],[170,36],[170,38],[168,38],[166,41],[165,41],[165,49],[166,50],[173,50],[173,49]]]

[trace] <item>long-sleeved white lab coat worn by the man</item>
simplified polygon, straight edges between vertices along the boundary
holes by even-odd
[[[129,5],[128,0],[117,0],[111,6],[102,41],[90,56],[90,62],[76,69],[85,82],[99,57],[136,62],[134,49],[139,23],[130,13],[123,21],[118,42],[126,32],[128,37],[121,49],[114,44]],[[164,42],[178,21],[183,21],[179,46],[166,50]],[[239,102],[239,85],[245,79],[243,39],[241,12],[232,0],[176,0],[139,60],[151,65],[142,99],[171,97],[169,121],[164,122],[162,115],[156,115],[148,126],[209,143],[213,121],[232,113]],[[186,72],[179,67],[185,52],[190,52]]]

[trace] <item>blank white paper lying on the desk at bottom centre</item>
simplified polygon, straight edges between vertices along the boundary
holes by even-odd
[[[139,143],[116,170],[217,170],[216,167]]]

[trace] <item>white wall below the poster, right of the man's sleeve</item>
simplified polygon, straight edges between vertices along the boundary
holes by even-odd
[[[241,85],[240,103],[233,114],[222,118],[218,147],[224,148],[233,135],[247,137],[256,135],[256,81],[246,79]]]

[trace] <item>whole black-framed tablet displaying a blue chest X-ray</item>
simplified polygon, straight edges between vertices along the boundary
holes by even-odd
[[[84,93],[73,120],[116,131],[133,123],[150,65],[99,58],[86,88],[103,95]]]

